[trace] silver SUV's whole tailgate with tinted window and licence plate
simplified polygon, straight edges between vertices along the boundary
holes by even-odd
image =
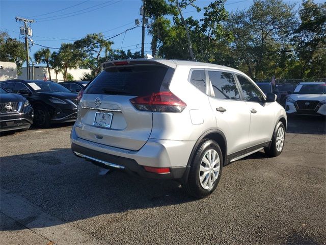
[[[152,131],[151,111],[139,111],[135,96],[168,88],[174,69],[159,63],[110,66],[87,87],[79,106],[75,127],[79,138],[137,151]]]

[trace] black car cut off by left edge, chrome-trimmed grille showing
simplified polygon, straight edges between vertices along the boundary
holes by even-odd
[[[0,132],[28,130],[33,124],[33,116],[33,108],[28,100],[0,88]]]

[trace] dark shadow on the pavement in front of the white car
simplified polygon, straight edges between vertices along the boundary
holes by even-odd
[[[325,116],[288,115],[287,133],[326,134]]]

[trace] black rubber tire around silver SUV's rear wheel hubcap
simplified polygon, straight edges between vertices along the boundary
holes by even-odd
[[[202,159],[206,155],[208,150],[215,150],[220,158],[220,171],[218,178],[213,182],[212,186],[209,189],[204,189],[200,183],[199,174],[200,166],[202,164]],[[189,195],[192,195],[195,198],[201,199],[207,197],[211,194],[219,184],[222,175],[223,167],[223,156],[222,151],[218,143],[211,139],[204,139],[198,145],[198,148],[195,152],[194,158],[191,162],[191,167],[189,170],[188,179],[183,184],[183,187],[188,192]],[[210,176],[207,178],[211,178]]]

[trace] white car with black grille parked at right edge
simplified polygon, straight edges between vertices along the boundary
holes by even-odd
[[[303,82],[286,99],[287,114],[326,115],[326,83]]]

